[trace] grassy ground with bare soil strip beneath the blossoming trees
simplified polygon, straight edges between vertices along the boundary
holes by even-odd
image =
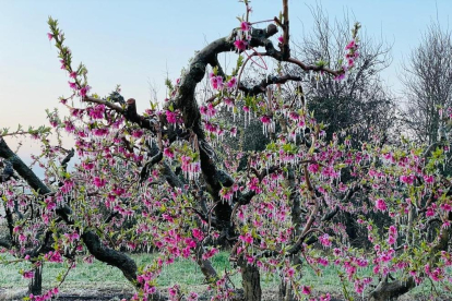
[[[13,260],[12,256],[5,255],[1,258],[0,254],[0,301],[5,300],[21,300],[26,293],[28,280],[23,279],[19,269],[29,269],[28,263],[7,264],[8,261]],[[131,255],[139,266],[150,264],[155,255],[153,254],[132,254]],[[124,279],[121,272],[115,267],[107,266],[100,262],[94,261],[88,263],[88,257],[80,260],[74,268],[66,278],[64,284],[60,288],[59,301],[82,301],[82,300],[99,300],[99,301],[119,301],[122,298],[130,298],[133,293],[133,287]],[[3,262],[2,262],[3,261]],[[213,265],[217,270],[228,270],[233,273],[228,253],[221,252],[213,257]],[[44,286],[50,288],[58,284],[56,280],[61,273],[67,270],[64,264],[46,263],[44,266],[43,281]],[[335,266],[329,266],[322,273],[322,277],[317,277],[309,269],[306,270],[304,279],[307,285],[312,286],[314,291],[333,292],[332,300],[345,300],[342,297],[342,284],[337,277],[337,269]],[[369,275],[371,269],[359,270],[364,276]],[[273,275],[274,276],[274,275]],[[240,288],[240,275],[230,274],[230,279],[237,288]],[[277,299],[278,277],[262,277],[263,301],[279,301]],[[199,267],[191,261],[177,260],[169,267],[165,267],[158,278],[158,286],[162,291],[165,288],[178,284],[187,291],[197,291],[202,298],[200,301],[209,301],[210,296],[205,294],[206,285]],[[353,284],[346,284],[348,291],[354,291]],[[440,289],[440,288],[437,288]],[[452,300],[451,292],[439,291],[442,298],[430,299],[431,287],[426,282],[421,287],[415,288],[409,294],[403,296],[401,301],[414,300]],[[354,296],[354,301],[362,300],[362,296]]]

